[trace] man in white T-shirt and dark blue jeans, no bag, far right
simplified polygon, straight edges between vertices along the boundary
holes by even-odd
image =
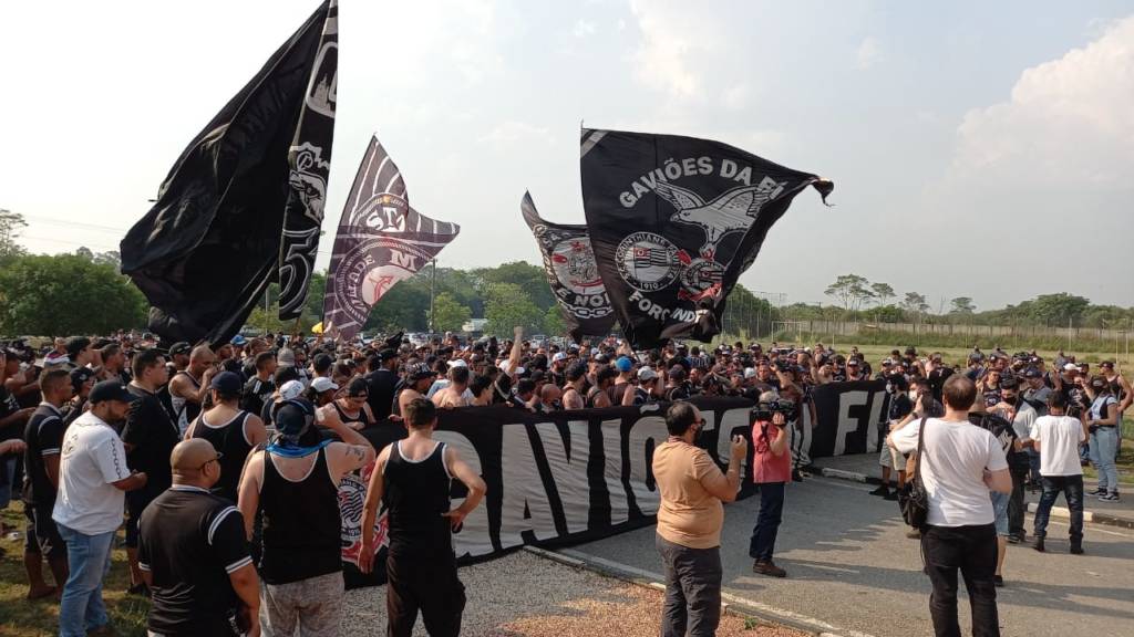
[[[1083,553],[1083,465],[1078,461],[1078,445],[1086,440],[1086,423],[1066,416],[1067,398],[1061,392],[1048,394],[1048,416],[1035,421],[1032,440],[1040,452],[1040,479],[1043,494],[1035,509],[1036,551],[1043,552],[1048,517],[1059,493],[1070,510],[1070,552]]]

